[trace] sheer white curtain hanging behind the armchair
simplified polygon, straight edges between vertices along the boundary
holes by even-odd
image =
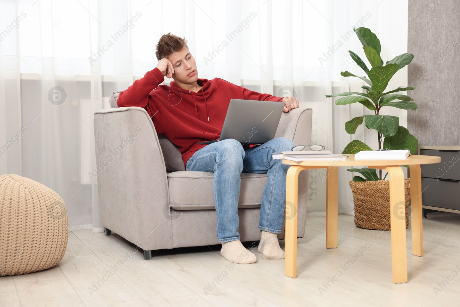
[[[185,37],[201,78],[220,77],[255,91],[296,96],[312,107],[312,142],[341,152],[363,127],[345,122],[368,110],[336,106],[324,95],[361,91],[362,54],[353,27],[380,38],[384,61],[407,52],[407,1],[395,0],[0,0],[0,174],[20,174],[56,191],[70,230],[102,231],[94,157],[93,112],[109,107],[156,67],[155,45]],[[395,9],[397,7],[397,9]],[[362,56],[362,58],[365,58]],[[389,86],[406,86],[406,68]],[[169,84],[171,80],[165,80]],[[406,126],[406,111],[391,110]],[[21,132],[21,129],[23,133]],[[25,132],[24,132],[25,131]],[[21,135],[21,136],[17,136]],[[353,214],[351,173],[339,171],[339,212]],[[311,171],[309,214],[325,211],[325,172]]]

